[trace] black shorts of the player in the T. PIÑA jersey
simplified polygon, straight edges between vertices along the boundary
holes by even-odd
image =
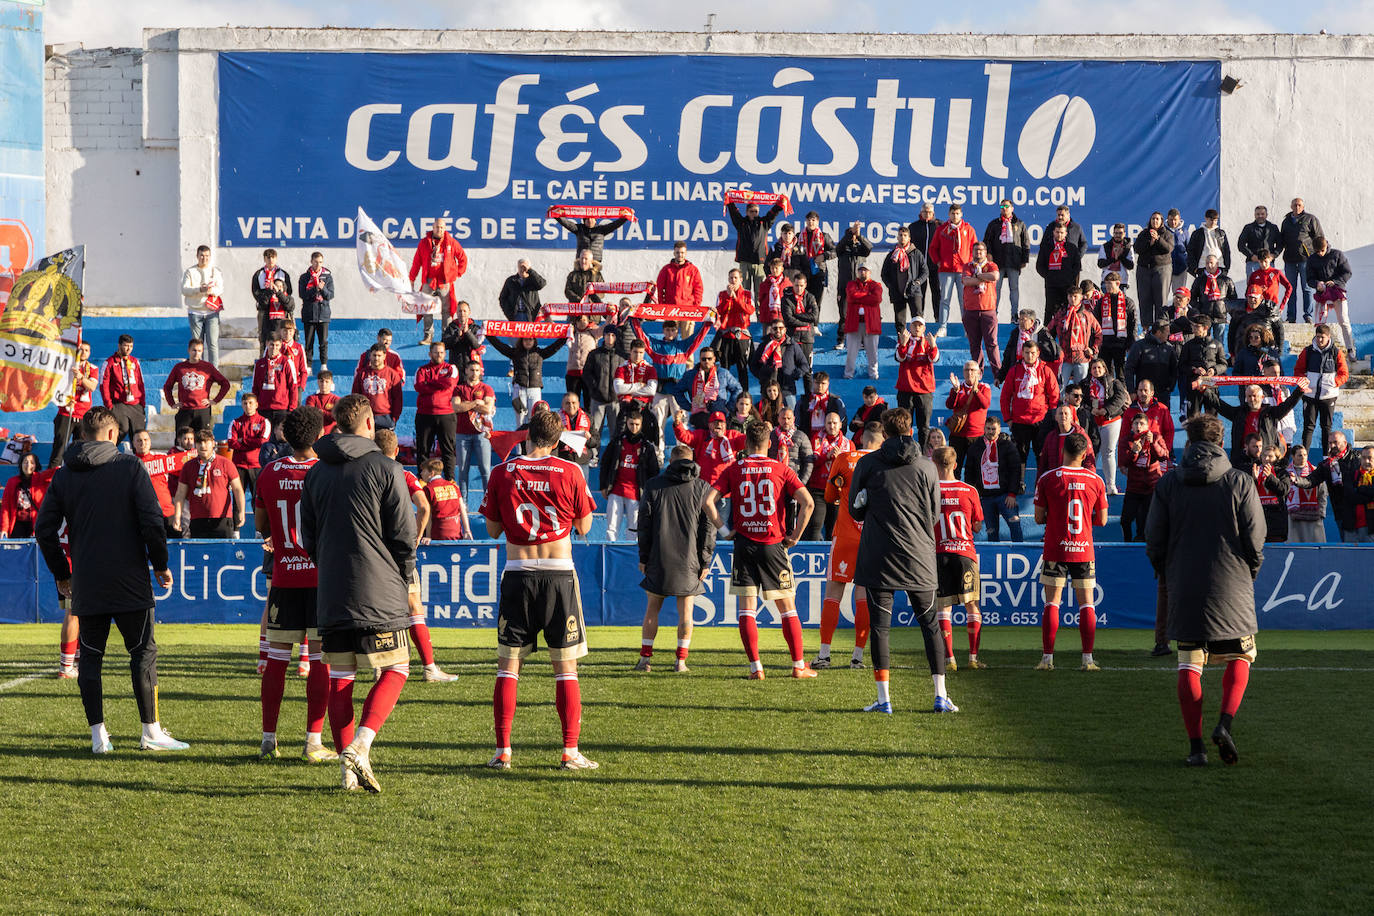
[[[540,633],[544,634],[548,658],[555,662],[587,655],[587,625],[577,573],[572,569],[513,570],[507,564],[496,612],[497,656],[525,658],[534,651]]]

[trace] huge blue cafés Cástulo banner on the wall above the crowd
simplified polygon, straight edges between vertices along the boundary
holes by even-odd
[[[1219,206],[1217,62],[723,55],[220,55],[220,243],[398,243],[448,214],[478,247],[550,247],[558,203],[632,206],[611,247],[725,249],[725,188],[786,192],[893,240],[921,203],[1032,243],[1057,205],[1116,221]],[[309,87],[290,118],[262,117]],[[1160,151],[1168,150],[1167,159]]]

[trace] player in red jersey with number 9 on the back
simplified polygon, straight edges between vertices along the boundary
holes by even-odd
[[[1063,441],[1063,466],[1047,471],[1035,488],[1035,520],[1044,525],[1044,563],[1040,584],[1044,586],[1044,614],[1040,618],[1040,663],[1037,672],[1054,670],[1054,637],[1059,632],[1059,602],[1072,581],[1079,603],[1079,636],[1083,641],[1081,672],[1096,672],[1092,641],[1096,636],[1096,567],[1092,551],[1092,526],[1107,523],[1107,493],[1102,478],[1083,467],[1088,437],[1073,433]]]

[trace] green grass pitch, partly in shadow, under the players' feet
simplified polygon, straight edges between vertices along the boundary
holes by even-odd
[[[666,619],[666,618],[665,618]],[[835,659],[849,655],[841,630]],[[870,672],[742,680],[734,630],[698,630],[673,674],[660,633],[594,629],[583,750],[556,769],[547,658],[521,680],[514,769],[492,747],[492,630],[434,630],[462,677],[419,667],[378,739],[379,797],[298,759],[304,681],[287,683],[283,758],[256,759],[256,629],[162,626],[162,720],[191,743],[139,753],[126,656],[106,663],[115,753],[96,758],[56,626],[4,628],[0,911],[5,912],[1235,912],[1367,913],[1374,861],[1374,633],[1261,633],[1235,724],[1241,764],[1182,766],[1175,662],[1145,632],[1102,630],[1105,670],[1030,670],[1039,633],[984,632],[963,709],[934,715],[915,632],[896,634],[888,718],[857,710]],[[816,634],[807,633],[808,654]],[[956,632],[959,659],[966,658]],[[666,650],[666,651],[665,651]],[[808,655],[809,658],[809,655]],[[49,672],[29,678],[38,672]],[[1206,728],[1220,669],[1204,676]],[[357,696],[365,692],[360,683]],[[327,736],[327,732],[326,732]]]

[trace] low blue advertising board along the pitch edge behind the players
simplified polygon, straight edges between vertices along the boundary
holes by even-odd
[[[262,549],[257,541],[172,541],[170,591],[158,589],[158,619],[170,623],[257,623],[267,600]],[[1098,545],[1098,626],[1154,626],[1154,575],[1139,544]],[[820,625],[829,544],[801,544],[791,551],[797,580],[797,610],[807,626]],[[980,544],[982,622],[989,626],[1040,623],[1040,551],[1029,544]],[[1367,547],[1270,545],[1254,584],[1260,629],[1374,629],[1374,564]],[[431,626],[496,626],[496,604],[506,551],[492,541],[431,544],[420,549],[420,582]],[[573,562],[581,584],[588,626],[638,626],[644,615],[639,588],[639,555],[632,544],[577,544]],[[41,574],[40,574],[41,571]],[[36,581],[37,577],[37,581]],[[734,626],[738,621],[730,586],[730,545],[716,552],[706,593],[697,599],[698,626]],[[60,621],[52,577],[33,541],[0,542],[0,589],[7,600],[0,622]],[[669,606],[672,603],[669,602]],[[665,621],[676,608],[665,611]],[[1062,623],[1077,623],[1072,603]],[[893,621],[914,623],[904,596],[897,596]],[[963,623],[963,608],[954,608]],[[779,623],[771,608],[758,622]],[[853,625],[846,596],[842,625]]]

